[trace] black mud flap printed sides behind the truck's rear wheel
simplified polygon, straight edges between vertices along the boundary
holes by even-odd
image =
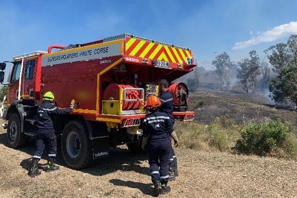
[[[99,159],[109,156],[109,136],[92,138],[93,158]]]

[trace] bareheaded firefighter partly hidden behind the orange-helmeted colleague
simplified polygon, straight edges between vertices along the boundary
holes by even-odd
[[[174,125],[174,117],[173,113],[173,98],[170,92],[168,91],[169,83],[166,79],[159,80],[159,98],[161,100],[161,111],[168,114],[170,119],[172,120],[172,125]],[[172,126],[173,128],[173,126]],[[174,133],[175,134],[175,133]],[[174,145],[177,147],[179,145],[178,139],[174,139]],[[179,175],[179,171],[177,168],[177,157],[175,155],[174,149],[171,147],[171,157],[169,161],[169,181],[175,180],[175,176]]]

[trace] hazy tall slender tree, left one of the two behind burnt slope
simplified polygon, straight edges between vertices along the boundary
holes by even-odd
[[[222,91],[224,87],[230,86],[229,69],[233,66],[233,62],[230,61],[230,57],[226,52],[222,52],[215,57],[212,65],[215,66],[214,72],[218,77],[218,84]]]

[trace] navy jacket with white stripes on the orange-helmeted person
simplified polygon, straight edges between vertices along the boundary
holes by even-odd
[[[173,131],[172,119],[165,112],[155,111],[148,114],[143,122],[144,137],[148,142],[156,140],[170,140]]]

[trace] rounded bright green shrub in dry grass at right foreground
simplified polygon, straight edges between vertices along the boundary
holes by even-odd
[[[270,120],[260,124],[248,124],[241,130],[242,139],[235,148],[242,153],[268,155],[285,148],[292,134],[292,126],[280,120]]]

